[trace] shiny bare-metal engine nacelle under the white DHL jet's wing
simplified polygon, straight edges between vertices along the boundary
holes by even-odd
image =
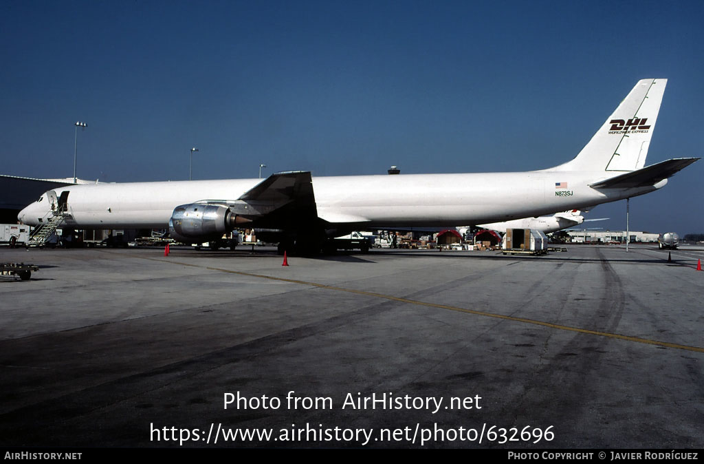
[[[180,242],[220,238],[234,228],[237,216],[219,204],[182,204],[169,219],[169,233]]]

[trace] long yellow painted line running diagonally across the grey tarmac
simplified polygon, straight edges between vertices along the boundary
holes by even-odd
[[[536,321],[534,319],[526,319],[524,317],[498,315],[498,314],[494,314],[493,312],[486,312],[486,311],[467,310],[463,307],[456,307],[456,306],[450,306],[450,305],[440,305],[439,303],[427,303],[425,301],[418,301],[418,300],[409,300],[408,298],[400,298],[397,296],[384,295],[382,293],[367,292],[367,291],[363,291],[363,290],[354,290],[353,288],[330,286],[330,285],[325,285],[324,283],[299,281],[299,280],[295,280],[295,279],[286,279],[284,277],[265,276],[263,274],[252,274],[250,272],[244,272],[244,271],[232,271],[230,269],[221,269],[219,267],[200,266],[199,264],[190,264],[190,263],[176,262],[176,261],[170,261],[170,260],[158,260],[156,258],[150,258],[150,257],[141,257],[141,258],[144,260],[167,262],[170,264],[181,264],[182,266],[201,267],[203,269],[208,269],[210,271],[227,272],[228,274],[238,274],[240,276],[256,277],[258,279],[270,279],[273,281],[298,283],[300,285],[307,285],[307,286],[318,287],[318,288],[327,288],[327,290],[341,291],[341,292],[347,292],[347,293],[357,293],[358,295],[366,295],[366,296],[371,296],[373,298],[382,298],[384,300],[398,301],[401,303],[408,303],[409,305],[438,307],[443,310],[466,312],[467,314],[470,314],[470,315],[494,317],[494,319],[505,319],[507,321],[522,322],[523,324],[533,324],[533,325],[538,325],[538,326],[550,327],[551,329],[577,332],[579,334],[605,336],[605,337],[609,337],[609,338],[617,338],[619,340],[634,341],[636,343],[646,343],[647,345],[665,346],[666,348],[677,348],[678,350],[688,350],[688,351],[696,351],[697,353],[704,353],[704,348],[701,348],[699,346],[679,345],[677,343],[669,343],[667,341],[650,340],[649,338],[640,338],[640,337],[634,337],[634,336],[628,336],[628,335],[612,334],[610,332],[602,332],[602,331],[597,331],[597,330],[580,329],[579,327],[553,324],[552,322]]]

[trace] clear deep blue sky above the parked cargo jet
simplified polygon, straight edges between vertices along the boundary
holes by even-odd
[[[488,3],[488,2],[487,2]],[[524,171],[668,78],[646,164],[703,153],[702,1],[4,1],[0,173]],[[631,229],[704,233],[704,161]],[[487,198],[491,201],[491,198]],[[593,210],[625,226],[625,204]]]

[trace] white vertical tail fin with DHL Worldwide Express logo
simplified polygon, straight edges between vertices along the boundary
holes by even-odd
[[[548,171],[628,172],[645,166],[667,79],[639,80],[581,152]]]

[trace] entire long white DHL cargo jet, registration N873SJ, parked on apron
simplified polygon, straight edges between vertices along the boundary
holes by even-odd
[[[312,177],[69,185],[44,193],[18,219],[61,215],[70,228],[169,228],[176,240],[254,228],[279,251],[315,252],[327,238],[393,226],[487,224],[635,197],[662,188],[699,158],[643,167],[666,79],[644,79],[577,157],[551,169],[508,173]]]

